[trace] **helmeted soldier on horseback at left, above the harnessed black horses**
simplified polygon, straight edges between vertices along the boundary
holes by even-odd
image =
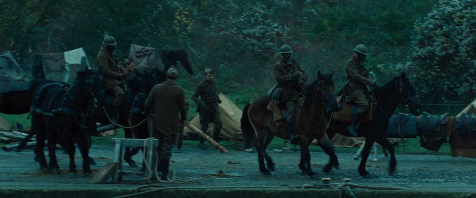
[[[115,122],[119,109],[125,99],[125,91],[127,86],[125,83],[124,68],[119,64],[119,59],[116,54],[116,42],[114,37],[106,35],[102,42],[102,47],[99,49],[97,56],[98,68],[105,78],[104,91],[111,93],[114,96],[112,120]]]

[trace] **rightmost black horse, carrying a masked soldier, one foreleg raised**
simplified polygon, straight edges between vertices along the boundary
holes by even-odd
[[[372,92],[377,103],[376,108],[373,109],[373,119],[361,123],[357,129],[357,135],[365,137],[362,161],[359,165],[359,174],[364,178],[370,176],[365,167],[374,142],[382,145],[390,153],[388,173],[389,175],[394,174],[396,168],[395,150],[385,136],[390,117],[399,104],[408,106],[410,112],[417,116],[421,109],[420,97],[405,73],[394,77],[385,85],[373,89]],[[336,133],[350,136],[346,129],[349,125],[350,123],[347,122],[333,120],[327,129],[329,138],[332,138]]]

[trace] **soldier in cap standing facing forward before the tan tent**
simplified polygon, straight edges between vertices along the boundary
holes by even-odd
[[[217,95],[213,73],[214,71],[212,69],[205,69],[205,79],[196,86],[195,92],[193,92],[192,100],[198,106],[196,111],[199,112],[200,115],[200,125],[202,126],[202,131],[206,133],[208,130],[208,125],[213,123],[215,125],[213,130],[213,139],[217,142],[220,142],[218,138],[222,123],[220,111],[218,110],[218,104],[221,103],[221,100]],[[200,137],[199,147],[202,149],[207,149],[202,137]]]

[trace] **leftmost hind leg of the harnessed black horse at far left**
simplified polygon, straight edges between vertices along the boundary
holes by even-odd
[[[39,168],[42,172],[48,169],[48,164],[45,157],[45,140],[46,140],[46,126],[43,123],[42,115],[35,112],[32,113],[31,129],[36,133],[36,156],[39,162]]]

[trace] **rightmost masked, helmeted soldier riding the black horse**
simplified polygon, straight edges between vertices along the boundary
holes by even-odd
[[[343,88],[345,94],[345,102],[353,102],[358,109],[351,110],[353,122],[347,127],[349,134],[357,136],[356,128],[360,123],[360,119],[364,113],[369,110],[369,101],[366,94],[369,93],[370,87],[378,87],[378,83],[374,81],[369,72],[364,68],[365,57],[367,56],[367,47],[361,44],[353,49],[352,57],[347,61],[345,67],[345,77],[348,83]]]

